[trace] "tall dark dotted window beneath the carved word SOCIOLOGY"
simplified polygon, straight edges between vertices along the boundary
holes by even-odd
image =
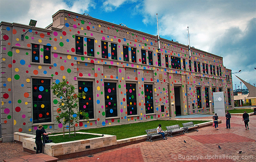
[[[136,84],[126,83],[127,115],[137,115]]]

